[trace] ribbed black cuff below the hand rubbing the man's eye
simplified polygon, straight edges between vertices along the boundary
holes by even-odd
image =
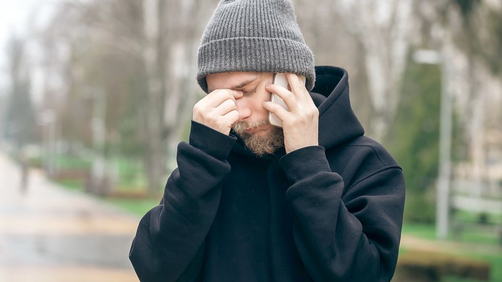
[[[233,135],[223,134],[192,120],[188,143],[216,159],[225,160],[236,141],[237,137]]]

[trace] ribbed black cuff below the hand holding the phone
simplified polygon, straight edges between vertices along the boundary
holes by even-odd
[[[282,156],[279,163],[293,184],[320,172],[331,172],[323,146],[296,149]]]

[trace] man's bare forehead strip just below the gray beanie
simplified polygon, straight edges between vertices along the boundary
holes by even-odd
[[[222,88],[234,88],[245,82],[257,80],[261,77],[261,72],[232,71],[211,73],[206,75],[207,88],[210,91]]]

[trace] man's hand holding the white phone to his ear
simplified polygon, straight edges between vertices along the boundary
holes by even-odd
[[[263,102],[263,107],[282,121],[284,148],[286,153],[289,153],[303,147],[319,145],[319,110],[298,74],[286,73],[286,78],[291,91],[276,84],[267,84],[266,89],[281,97],[289,111],[271,101]]]

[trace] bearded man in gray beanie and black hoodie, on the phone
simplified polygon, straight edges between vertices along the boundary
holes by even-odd
[[[140,280],[391,280],[401,168],[363,136],[347,72],[314,67],[291,2],[221,1],[201,43],[208,95],[159,206],[139,223],[129,258]],[[288,89],[268,84],[274,72]]]

